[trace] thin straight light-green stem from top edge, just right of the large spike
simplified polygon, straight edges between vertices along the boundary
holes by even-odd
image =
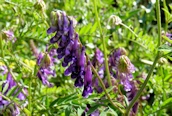
[[[104,57],[105,57],[105,68],[106,68],[108,83],[109,83],[109,87],[111,87],[112,86],[112,82],[111,82],[111,77],[110,77],[110,72],[109,72],[109,66],[108,66],[108,58],[107,58],[105,38],[103,36],[102,27],[101,27],[101,24],[100,24],[100,20],[99,20],[98,13],[97,13],[96,0],[93,0],[93,3],[94,3],[94,12],[95,12],[95,15],[96,15],[96,20],[97,20],[98,27],[99,27],[99,30],[100,30],[100,36],[102,38],[102,43],[103,43],[103,52],[104,52]]]

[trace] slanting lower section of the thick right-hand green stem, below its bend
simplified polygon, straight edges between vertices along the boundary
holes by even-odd
[[[140,88],[140,90],[137,92],[136,96],[133,98],[133,100],[131,101],[131,103],[130,103],[129,106],[127,107],[126,113],[125,113],[126,116],[128,116],[128,114],[129,114],[129,112],[130,112],[130,109],[133,107],[133,105],[135,104],[135,102],[138,100],[138,98],[139,98],[140,95],[142,94],[144,88],[146,87],[146,85],[147,85],[147,83],[148,83],[148,81],[149,81],[149,79],[150,79],[150,77],[151,77],[151,74],[152,74],[152,72],[153,72],[153,69],[154,69],[155,66],[156,66],[156,63],[157,63],[158,59],[159,59],[159,53],[157,54],[157,56],[156,56],[156,58],[155,58],[155,60],[154,60],[154,62],[153,62],[153,65],[152,65],[151,69],[149,70],[149,73],[148,73],[148,75],[147,75],[147,77],[146,77],[146,80],[144,81],[142,87]]]

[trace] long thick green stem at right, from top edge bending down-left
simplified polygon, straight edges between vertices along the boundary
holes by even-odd
[[[159,0],[156,0],[156,14],[157,14],[157,23],[158,23],[158,47],[161,45],[161,15],[160,15],[160,5],[159,5]],[[151,74],[153,72],[153,69],[155,68],[156,66],[156,63],[158,62],[160,58],[160,52],[157,53],[156,57],[155,57],[155,60],[153,62],[153,65],[151,66],[151,69],[149,70],[149,73],[146,77],[146,80],[144,81],[141,89],[137,92],[136,96],[133,98],[133,100],[131,101],[131,103],[129,104],[129,106],[127,107],[126,109],[126,116],[128,116],[129,112],[130,112],[130,109],[133,107],[133,105],[136,103],[136,101],[138,100],[138,98],[140,97],[140,95],[142,94],[144,88],[146,87],[150,77],[151,77]]]

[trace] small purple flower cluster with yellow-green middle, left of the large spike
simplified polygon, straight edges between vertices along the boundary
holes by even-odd
[[[52,48],[49,52],[46,50],[45,54],[40,53],[37,58],[37,65],[39,66],[37,76],[48,87],[52,87],[52,83],[48,81],[48,76],[56,76],[55,70],[52,69],[52,66],[57,63],[55,57],[57,57],[56,49]]]

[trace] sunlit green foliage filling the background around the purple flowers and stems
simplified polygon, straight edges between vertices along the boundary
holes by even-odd
[[[108,56],[114,48],[124,47],[131,62],[136,67],[134,80],[144,82],[140,75],[147,75],[153,59],[157,52],[161,53],[167,63],[157,63],[153,74],[142,93],[142,96],[150,95],[147,100],[139,99],[140,103],[138,115],[170,115],[172,113],[172,40],[162,33],[162,44],[158,44],[157,18],[155,13],[155,3],[141,0],[97,0],[98,14],[106,41]],[[171,33],[172,6],[161,3],[161,13],[165,20],[162,21],[162,30]],[[49,39],[52,37],[46,33],[50,24],[50,13],[53,10],[63,10],[68,15],[73,16],[78,24],[76,31],[80,41],[86,46],[86,53],[89,58],[93,58],[96,47],[103,50],[98,23],[95,19],[94,6],[90,0],[10,0],[0,1],[0,66],[6,65],[11,69],[13,78],[18,83],[6,93],[6,99],[16,103],[21,110],[21,115],[27,116],[81,116],[87,104],[91,108],[87,111],[90,115],[99,110],[100,116],[122,115],[118,109],[110,105],[105,93],[94,93],[88,98],[82,98],[82,89],[74,87],[74,81],[70,77],[64,76],[64,68],[61,61],[54,68],[56,76],[49,77],[49,81],[54,83],[54,87],[43,86],[36,73],[36,56],[31,46],[34,41],[38,52],[45,51]],[[121,18],[122,25],[110,25],[108,23],[111,15]],[[109,28],[109,26],[111,28]],[[16,42],[9,41],[4,31],[12,30]],[[134,33],[134,34],[133,34]],[[57,46],[55,46],[57,47]],[[1,75],[0,70],[0,90],[5,75]],[[3,87],[1,94],[4,94],[8,84]],[[20,101],[16,98],[22,91],[27,89],[27,98]],[[107,91],[114,103],[125,110],[128,106],[126,93],[122,91],[124,100],[118,101],[116,88],[108,88]],[[17,90],[17,92],[16,92]],[[0,94],[0,95],[1,95]],[[24,108],[22,105],[28,103]],[[1,110],[0,110],[1,111]]]

